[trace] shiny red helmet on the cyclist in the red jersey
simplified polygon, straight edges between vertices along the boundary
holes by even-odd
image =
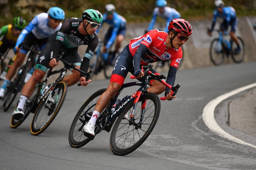
[[[177,33],[183,33],[184,35],[190,36],[192,34],[192,26],[191,24],[181,18],[173,19],[168,26],[168,30],[174,30]]]

